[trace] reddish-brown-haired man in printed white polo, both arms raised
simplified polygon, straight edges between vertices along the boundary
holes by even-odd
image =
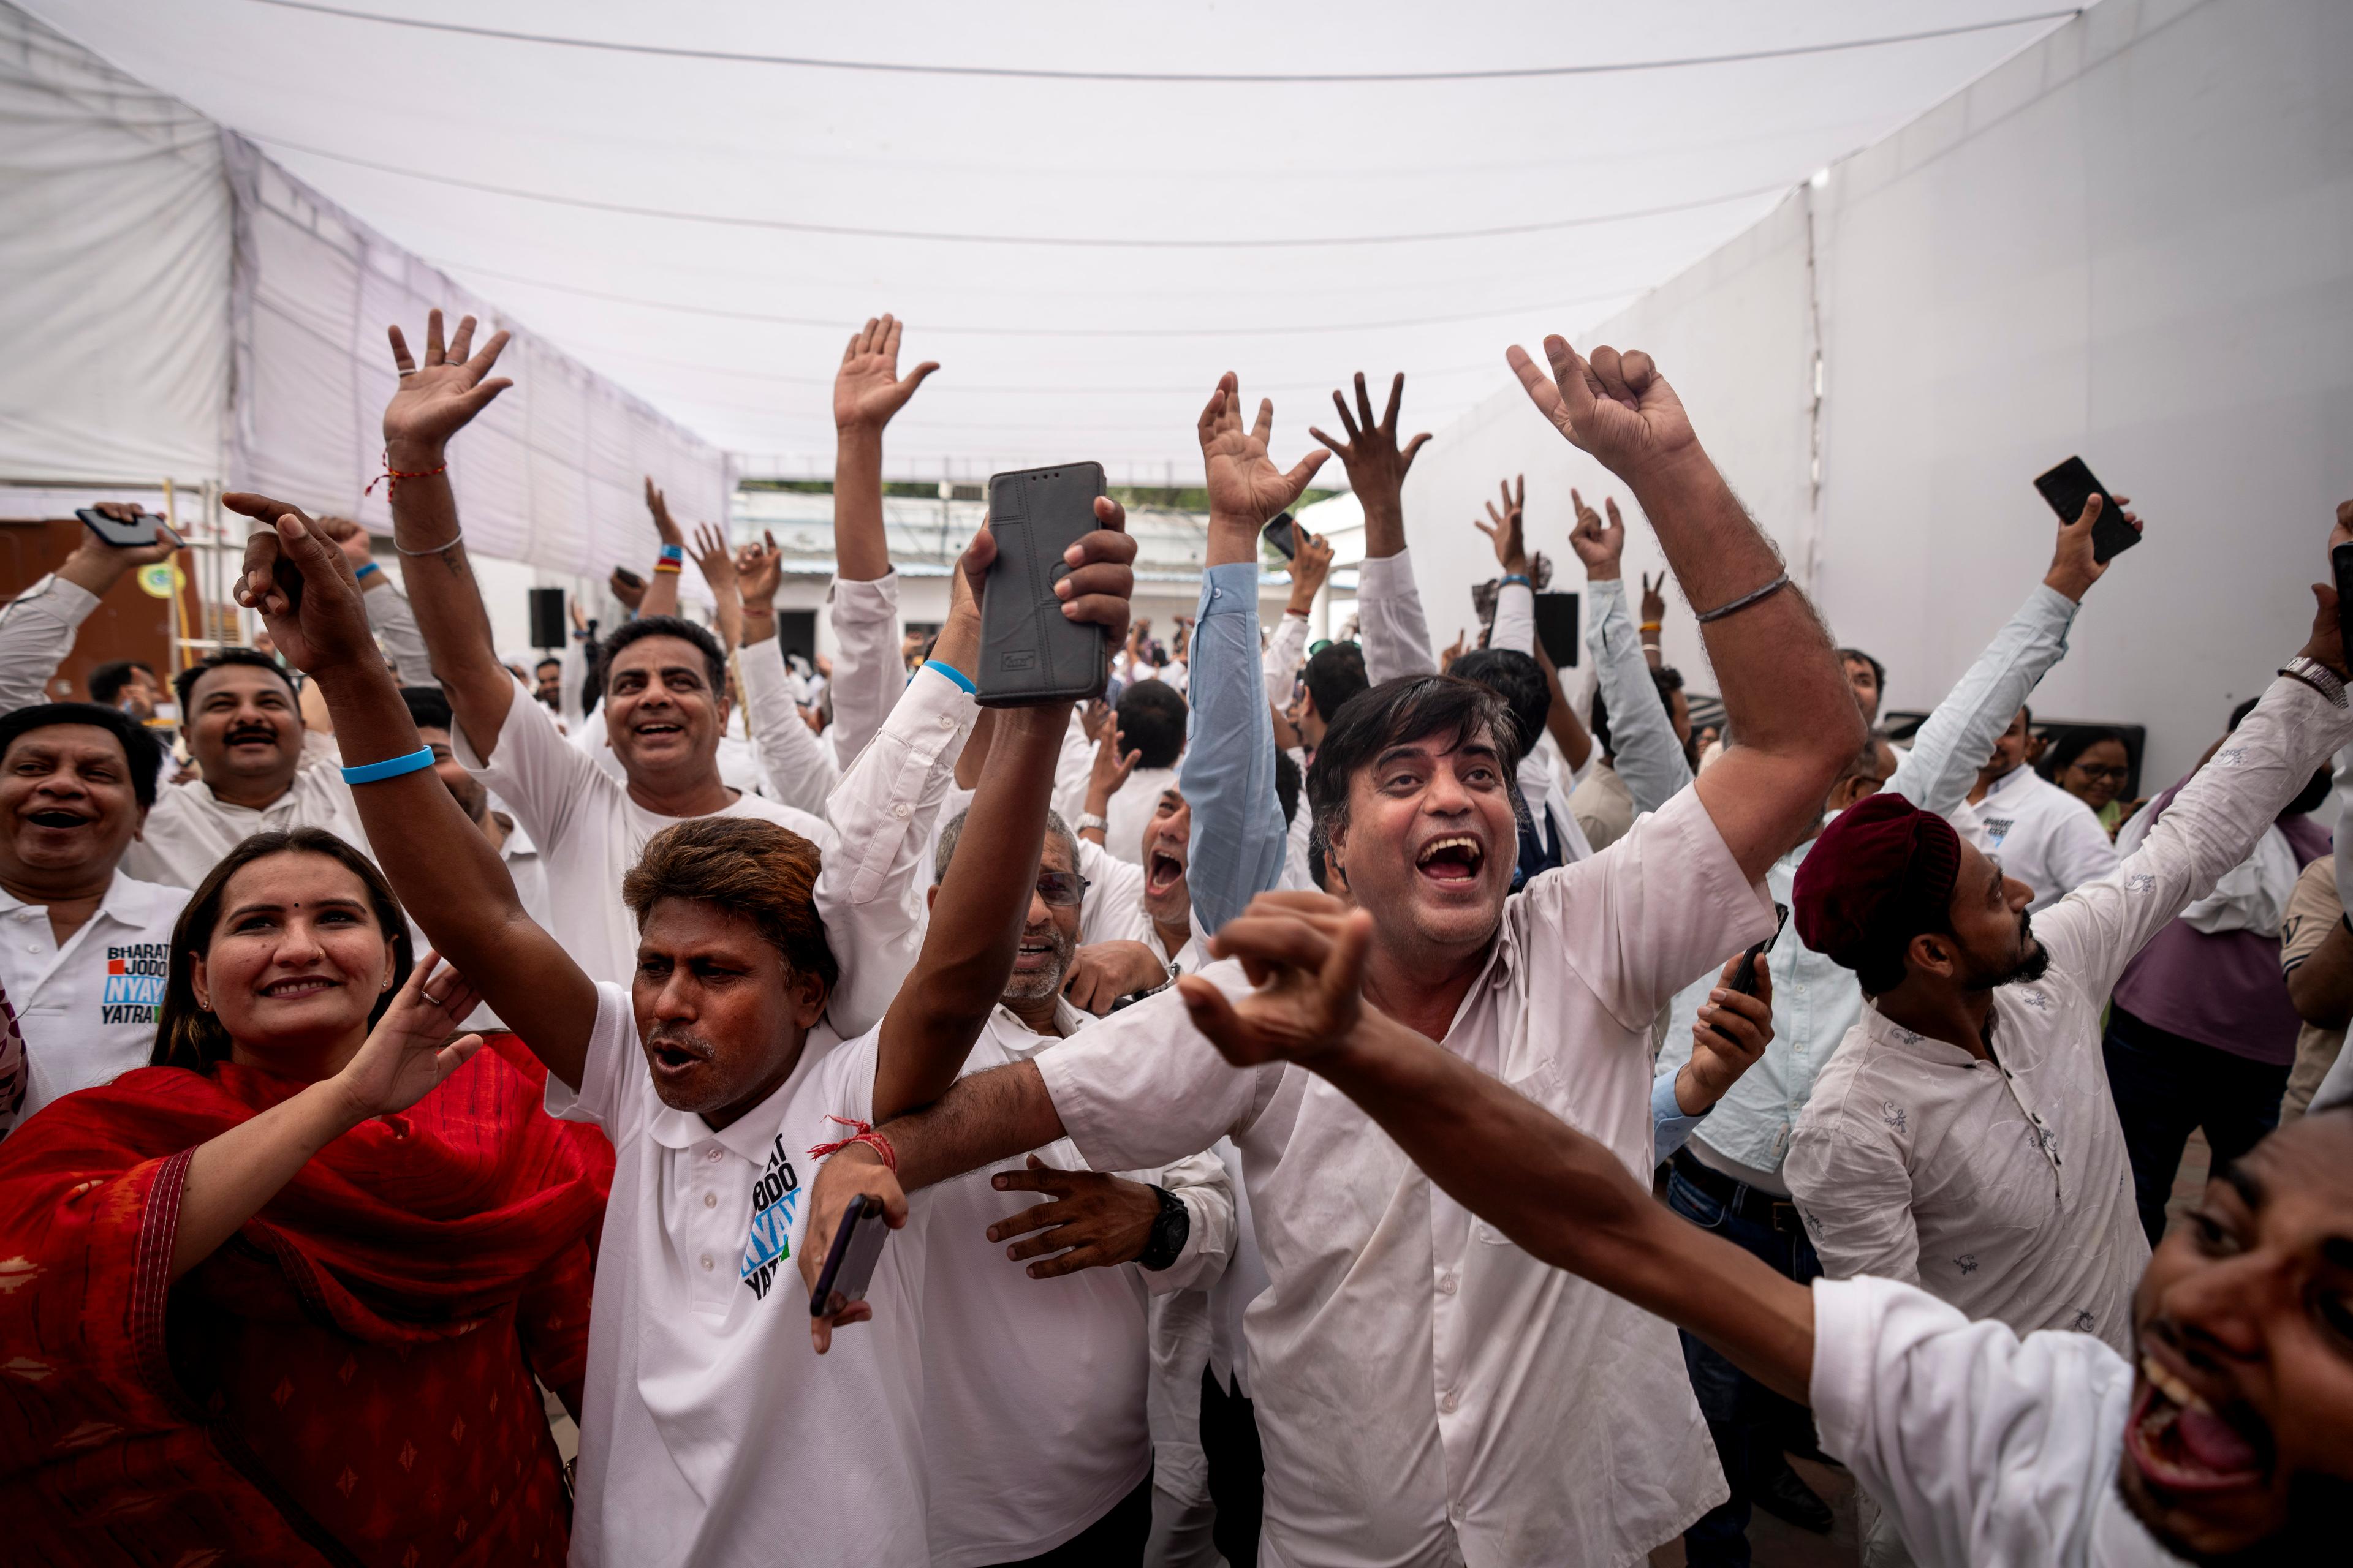
[[[619,1154],[572,1563],[927,1563],[913,1326],[922,1227],[882,1253],[868,1295],[880,1328],[819,1361],[791,1272],[807,1244],[802,1187],[828,1145],[873,1138],[864,1124],[948,1088],[998,1006],[1038,884],[1068,710],[1000,715],[936,919],[878,1027],[845,1041],[824,1023],[835,961],[812,900],[816,851],[758,818],[704,816],[652,837],[621,886],[638,924],[624,990],[532,924],[499,853],[433,776],[336,548],[294,508],[242,501],[275,536],[249,552],[240,602],[264,611],[278,646],[327,693],[344,757],[358,762],[360,816],[386,839],[386,875],[466,985],[548,1065],[548,1110],[598,1124]],[[1071,621],[1101,625],[1118,646],[1134,541],[1113,501],[1094,512],[1101,527],[1068,550],[1056,592]],[[299,614],[273,585],[280,552],[304,574]],[[976,583],[991,557],[984,531],[939,635],[941,668],[915,675],[899,712],[962,703],[969,724],[953,672],[979,654]],[[906,766],[887,724],[842,790],[866,769]],[[892,1218],[904,1225],[906,1206]]]

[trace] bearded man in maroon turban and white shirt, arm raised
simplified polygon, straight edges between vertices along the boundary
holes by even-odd
[[[2339,524],[2329,543],[2346,541]],[[1821,832],[1795,926],[1868,997],[1784,1166],[1826,1274],[1918,1281],[2017,1333],[2129,1349],[2148,1237],[2099,1018],[2125,964],[2353,741],[2334,595],[2315,595],[2304,649],[2148,839],[2040,917],[2026,884],[1901,797]]]

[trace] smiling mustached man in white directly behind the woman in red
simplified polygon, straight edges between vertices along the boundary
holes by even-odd
[[[367,849],[334,748],[308,743],[294,679],[256,649],[216,649],[172,677],[198,778],[155,797],[122,870],[193,889],[256,832],[325,827]]]

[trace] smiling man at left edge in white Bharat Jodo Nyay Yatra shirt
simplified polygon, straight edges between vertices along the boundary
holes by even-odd
[[[162,748],[96,703],[0,715],[0,994],[26,1074],[0,1133],[49,1100],[144,1067],[186,889],[122,875]],[[14,1100],[14,1103],[9,1103]]]

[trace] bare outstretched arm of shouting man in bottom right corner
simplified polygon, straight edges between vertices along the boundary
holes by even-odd
[[[1381,1124],[1471,1213],[1553,1267],[1689,1328],[1758,1382],[1805,1401],[1812,1293],[1685,1225],[1619,1159],[1501,1081],[1362,1001],[1372,917],[1320,893],[1268,893],[1212,943],[1259,990],[1176,985],[1240,1067],[1292,1060]]]

